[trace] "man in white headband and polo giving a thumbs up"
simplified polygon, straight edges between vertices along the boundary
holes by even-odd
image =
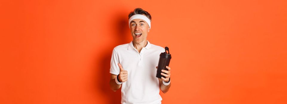
[[[110,88],[113,91],[121,86],[122,104],[160,104],[163,93],[171,87],[170,71],[162,70],[166,78],[156,78],[156,66],[159,54],[165,49],[151,44],[147,40],[151,29],[151,15],[141,8],[136,8],[129,15],[129,27],[133,41],[116,46],[110,62]]]

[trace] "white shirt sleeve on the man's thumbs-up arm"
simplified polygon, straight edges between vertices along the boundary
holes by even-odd
[[[119,70],[118,63],[119,63],[119,55],[116,52],[116,50],[113,49],[112,58],[110,59],[110,73],[111,74],[114,74],[114,75],[119,74],[120,70]]]

